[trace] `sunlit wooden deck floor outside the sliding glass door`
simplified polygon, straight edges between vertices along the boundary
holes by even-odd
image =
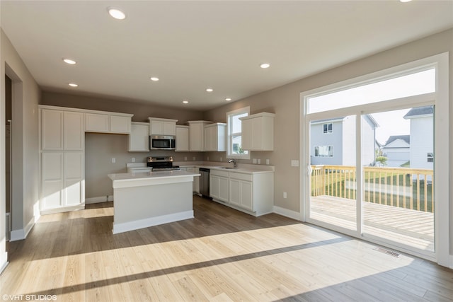
[[[363,232],[434,251],[434,215],[432,213],[364,203]],[[354,199],[321,195],[311,197],[311,218],[356,230]]]

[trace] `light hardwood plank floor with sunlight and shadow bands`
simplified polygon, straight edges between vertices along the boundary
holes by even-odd
[[[453,270],[432,262],[200,197],[194,210],[195,219],[117,235],[111,202],[42,216],[26,240],[8,243],[2,298],[453,301]]]

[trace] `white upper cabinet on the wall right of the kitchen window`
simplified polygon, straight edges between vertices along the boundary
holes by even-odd
[[[241,117],[242,148],[248,151],[274,150],[274,117],[268,112]]]

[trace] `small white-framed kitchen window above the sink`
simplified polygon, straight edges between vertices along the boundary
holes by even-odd
[[[226,123],[228,129],[227,141],[227,158],[244,158],[250,159],[250,153],[242,149],[242,123],[240,117],[246,117],[250,114],[250,107],[226,112]]]

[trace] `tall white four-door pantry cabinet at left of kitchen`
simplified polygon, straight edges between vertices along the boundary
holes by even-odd
[[[85,207],[84,113],[40,105],[40,211]]]

